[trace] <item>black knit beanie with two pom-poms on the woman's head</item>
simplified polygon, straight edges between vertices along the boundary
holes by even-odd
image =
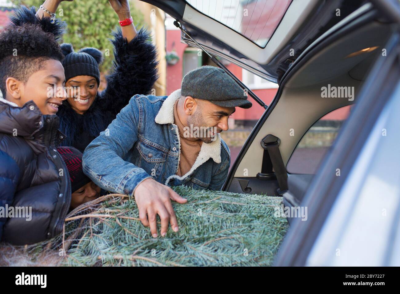
[[[83,48],[74,52],[71,44],[60,45],[65,58],[62,61],[65,72],[65,80],[74,76],[92,76],[96,78],[97,85],[100,84],[99,65],[103,61],[103,54],[96,48]]]

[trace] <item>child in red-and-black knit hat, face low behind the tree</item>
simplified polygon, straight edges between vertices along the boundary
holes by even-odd
[[[82,153],[74,147],[57,147],[57,151],[70,174],[72,192],[70,209],[98,198],[101,189],[83,173]]]

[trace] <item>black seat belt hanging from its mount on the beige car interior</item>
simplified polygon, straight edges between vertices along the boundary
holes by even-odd
[[[279,144],[279,138],[271,134],[265,136],[261,140],[261,146],[264,149],[261,174],[270,174],[272,168],[274,168],[275,176],[279,185],[278,193],[283,194],[288,190],[288,173],[286,172],[282,155],[279,151]]]

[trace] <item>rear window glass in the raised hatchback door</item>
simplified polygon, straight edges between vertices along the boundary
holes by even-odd
[[[265,47],[292,0],[186,0],[193,8]]]

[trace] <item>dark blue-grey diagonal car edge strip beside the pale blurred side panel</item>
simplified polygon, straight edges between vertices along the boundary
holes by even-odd
[[[326,155],[314,177],[301,206],[308,207],[308,220],[293,221],[278,252],[275,266],[304,266],[346,177],[360,154],[368,134],[386,102],[398,85],[400,34],[393,27],[385,46],[387,55],[374,64],[348,120],[334,146]],[[396,75],[397,73],[397,75]],[[376,103],[379,101],[379,103]],[[362,121],[362,124],[358,123]],[[349,148],[351,146],[351,148]],[[334,150],[334,152],[332,152]],[[332,176],[332,169],[340,168],[340,176]]]

